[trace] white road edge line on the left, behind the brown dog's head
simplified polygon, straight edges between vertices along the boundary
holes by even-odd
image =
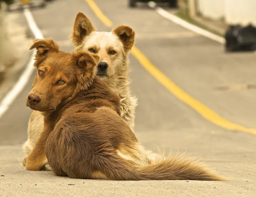
[[[43,34],[41,33],[40,29],[38,29],[38,26],[36,25],[35,20],[32,16],[32,13],[29,11],[29,9],[25,8],[23,13],[26,17],[26,21],[29,25],[29,28],[33,32],[35,38],[43,39],[44,38]],[[17,81],[17,83],[15,83],[15,85],[12,87],[12,89],[8,92],[8,94],[6,94],[6,96],[1,101],[1,103],[0,103],[0,118],[8,110],[8,108],[11,106],[12,102],[15,100],[15,98],[18,96],[18,94],[20,94],[20,92],[23,90],[23,88],[28,83],[29,78],[31,77],[31,74],[34,71],[33,64],[34,64],[34,53],[31,57],[31,60],[29,61],[28,65],[26,66],[26,69],[20,75],[20,78]]]

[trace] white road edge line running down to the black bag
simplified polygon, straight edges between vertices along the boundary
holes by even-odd
[[[215,40],[221,44],[225,43],[225,39],[221,36],[218,36],[216,34],[213,34],[212,32],[209,32],[207,30],[201,29],[198,26],[192,25],[191,23],[186,22],[185,20],[180,19],[179,17],[176,17],[174,14],[170,14],[168,11],[157,7],[156,3],[150,1],[148,3],[148,6],[151,8],[154,8],[158,14],[160,14],[162,17],[171,20],[172,22],[183,26],[186,29],[189,29],[191,31],[194,31],[197,34],[200,34],[202,36],[208,37],[209,39]]]

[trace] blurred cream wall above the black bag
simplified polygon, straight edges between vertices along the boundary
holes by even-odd
[[[197,13],[203,17],[224,19],[228,24],[256,25],[256,0],[195,0],[195,3]]]

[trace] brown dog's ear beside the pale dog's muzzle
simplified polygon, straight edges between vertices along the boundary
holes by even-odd
[[[96,67],[95,59],[99,59],[97,55],[94,56],[95,57],[86,52],[73,54],[73,59],[75,60],[76,66],[78,67],[78,88],[80,90],[88,89],[88,87],[93,82]]]

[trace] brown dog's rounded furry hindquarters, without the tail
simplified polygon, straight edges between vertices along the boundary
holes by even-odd
[[[92,179],[122,143],[133,146],[137,140],[115,111],[102,107],[94,113],[76,112],[61,119],[49,135],[46,154],[57,175]]]

